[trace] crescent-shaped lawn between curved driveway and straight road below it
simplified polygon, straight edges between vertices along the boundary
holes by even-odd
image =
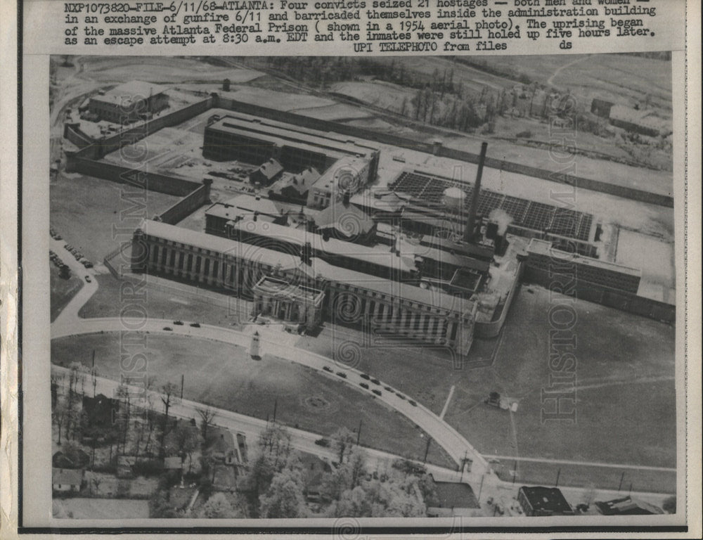
[[[51,342],[53,364],[88,362],[96,351],[98,373],[120,378],[117,334],[81,335]],[[422,459],[422,430],[368,394],[358,392],[310,368],[271,356],[249,358],[245,349],[221,342],[172,335],[149,335],[148,375],[157,383],[179,383],[185,374],[183,397],[247,416],[276,419],[302,430],[333,435],[342,426],[355,430],[361,420],[361,444]],[[453,467],[443,450],[430,446],[428,461]]]

